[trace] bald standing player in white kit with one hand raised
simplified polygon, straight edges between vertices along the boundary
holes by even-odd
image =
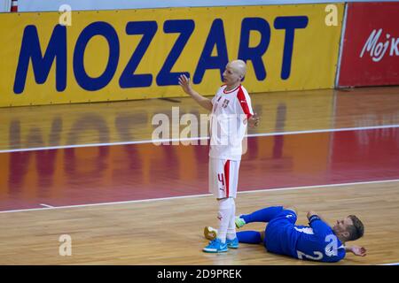
[[[190,79],[182,75],[179,84],[184,92],[211,112],[209,151],[209,192],[219,203],[217,218],[220,220],[217,237],[203,251],[225,252],[228,248],[239,248],[234,216],[239,182],[239,163],[246,124],[257,126],[259,119],[254,114],[251,98],[241,81],[246,75],[246,63],[234,60],[226,65],[223,73],[225,83],[212,100],[192,89]]]

